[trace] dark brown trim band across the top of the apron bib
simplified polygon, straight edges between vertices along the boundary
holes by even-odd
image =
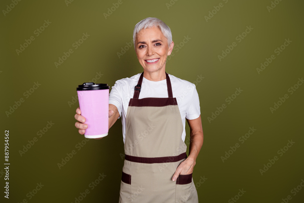
[[[169,105],[177,105],[176,98],[155,98],[148,97],[143,99],[130,99],[129,107],[165,107]]]

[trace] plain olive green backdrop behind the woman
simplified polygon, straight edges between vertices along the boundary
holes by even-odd
[[[166,71],[199,93],[199,202],[303,202],[303,1],[15,4],[0,3],[1,202],[118,202],[121,120],[102,140],[85,141],[74,127],[74,97],[83,82],[113,86],[142,72],[130,42],[146,17],[171,28]],[[9,199],[3,163],[10,163]]]

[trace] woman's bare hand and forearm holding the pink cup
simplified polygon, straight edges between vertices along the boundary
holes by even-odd
[[[81,111],[79,107],[76,109],[76,114],[74,117],[77,121],[79,121],[75,123],[76,128],[79,128],[78,129],[79,134],[80,135],[85,134],[85,129],[88,128],[88,125],[84,124],[85,117],[81,116]],[[117,107],[113,104],[109,104],[109,129],[117,121],[118,117],[119,117],[119,112],[117,110]],[[101,138],[95,138],[95,139],[99,140]]]

